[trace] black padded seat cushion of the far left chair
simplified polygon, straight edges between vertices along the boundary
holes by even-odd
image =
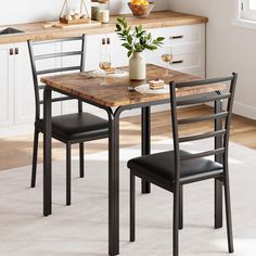
[[[37,120],[36,127],[43,131],[43,120]],[[52,117],[52,136],[63,140],[94,140],[108,136],[108,121],[90,113],[74,113]]]

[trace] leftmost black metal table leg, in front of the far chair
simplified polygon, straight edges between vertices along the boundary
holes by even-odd
[[[52,214],[52,90],[49,87],[43,91],[43,215]]]

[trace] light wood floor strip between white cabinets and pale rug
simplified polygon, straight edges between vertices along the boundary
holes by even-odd
[[[180,110],[180,115],[195,116],[213,112],[208,106],[195,106]],[[169,112],[154,113],[152,115],[152,141],[170,138]],[[193,133],[201,130],[209,130],[213,124],[204,121],[196,127],[185,126],[182,133]],[[241,116],[233,116],[231,125],[231,141],[256,149],[256,120]],[[140,117],[127,117],[120,121],[120,146],[130,146],[140,143]],[[31,164],[33,135],[0,139],[0,170],[27,166]],[[86,152],[107,150],[107,140],[98,140],[86,143]],[[78,155],[74,145],[73,155]],[[53,159],[65,159],[65,145],[53,141]],[[42,162],[42,136],[40,137],[39,162]]]

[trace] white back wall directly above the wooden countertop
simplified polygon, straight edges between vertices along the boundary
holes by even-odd
[[[71,8],[79,7],[80,0],[69,0]],[[128,0],[110,0],[112,13],[130,13]],[[51,21],[60,15],[64,0],[0,0],[0,25]],[[155,0],[154,10],[168,9],[168,0]],[[90,9],[90,0],[86,0]],[[78,4],[78,5],[77,5]]]

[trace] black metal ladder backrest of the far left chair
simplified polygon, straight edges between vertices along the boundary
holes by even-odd
[[[63,44],[64,43],[78,43],[78,50],[63,50]],[[43,104],[43,100],[40,99],[40,91],[44,89],[46,85],[42,85],[40,82],[40,76],[42,75],[56,75],[56,74],[62,74],[62,73],[67,73],[67,72],[84,72],[85,69],[85,57],[86,57],[86,36],[82,35],[80,37],[69,37],[69,38],[63,38],[63,39],[53,39],[53,40],[47,40],[47,41],[27,41],[28,44],[28,51],[29,51],[29,56],[30,56],[30,63],[31,63],[31,72],[33,72],[33,79],[34,79],[34,91],[35,91],[35,103],[36,103],[36,119],[39,119],[41,116],[41,108],[40,105]],[[60,50],[55,50],[55,46],[60,44]],[[52,47],[48,47],[52,46]],[[37,53],[37,48],[38,49],[43,49],[43,53]],[[47,50],[46,50],[46,49]],[[52,50],[54,49],[54,50]],[[46,53],[47,52],[47,53]],[[67,66],[65,66],[64,59],[66,57],[74,57],[78,56],[78,60],[76,65],[71,65],[68,63]],[[47,64],[47,68],[41,67],[41,62],[44,62]],[[49,63],[53,63],[53,67]],[[55,66],[55,64],[59,63],[60,66]],[[73,63],[73,62],[72,62]],[[41,65],[43,66],[43,65]],[[46,65],[44,65],[46,66]],[[52,102],[61,102],[61,101],[67,101],[67,100],[73,100],[71,97],[55,97],[52,99]],[[78,111],[82,112],[82,103],[78,101]]]

